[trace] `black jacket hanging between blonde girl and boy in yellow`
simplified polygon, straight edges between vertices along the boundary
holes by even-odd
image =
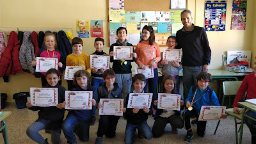
[[[64,54],[65,58],[68,54],[72,53],[72,45],[70,44],[67,35],[64,31],[59,31],[59,44],[60,44],[60,51]]]

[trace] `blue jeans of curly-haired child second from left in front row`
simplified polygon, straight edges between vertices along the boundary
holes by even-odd
[[[75,143],[76,136],[72,130],[72,127],[77,124],[79,121],[77,120],[75,115],[68,115],[66,120],[62,124],[62,130],[67,138],[68,143]],[[89,131],[90,131],[90,121],[88,122],[79,122],[77,125],[77,136],[81,141],[88,141],[89,140]]]

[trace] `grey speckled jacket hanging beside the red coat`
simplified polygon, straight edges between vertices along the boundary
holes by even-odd
[[[29,70],[31,74],[35,73],[35,69],[32,67],[31,63],[35,60],[34,46],[31,44],[31,33],[29,31],[24,31],[23,42],[20,46],[19,60],[22,69]]]

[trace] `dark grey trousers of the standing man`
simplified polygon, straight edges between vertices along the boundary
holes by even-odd
[[[196,85],[196,76],[203,71],[204,66],[197,66],[197,67],[188,67],[188,66],[183,66],[183,97],[184,100],[187,99],[188,97],[188,92],[191,88],[191,86]]]

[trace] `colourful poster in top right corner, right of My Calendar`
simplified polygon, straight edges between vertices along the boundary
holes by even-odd
[[[233,0],[231,30],[245,30],[247,0]]]

